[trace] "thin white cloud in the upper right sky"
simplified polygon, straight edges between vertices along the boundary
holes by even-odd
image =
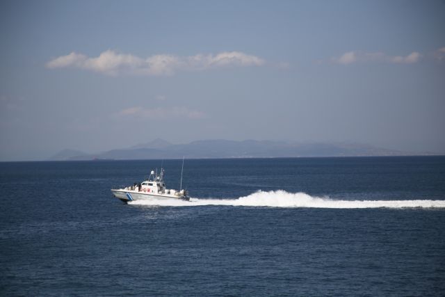
[[[343,65],[357,62],[412,64],[419,62],[420,59],[421,54],[417,51],[413,51],[407,56],[388,56],[381,52],[367,53],[362,51],[348,51],[338,58],[332,58],[331,61]]]

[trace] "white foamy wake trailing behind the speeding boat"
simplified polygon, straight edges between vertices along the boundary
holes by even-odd
[[[257,191],[238,199],[198,199],[184,200],[136,200],[133,205],[152,205],[186,207],[202,205],[229,205],[242,207],[312,207],[330,209],[362,208],[445,208],[445,200],[334,200],[331,198],[312,197],[306,193],[288,193],[286,191]]]

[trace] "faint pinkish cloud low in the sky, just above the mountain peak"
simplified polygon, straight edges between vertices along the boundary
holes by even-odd
[[[134,118],[188,118],[188,119],[198,119],[203,118],[204,113],[200,111],[193,111],[187,109],[186,107],[172,107],[171,109],[166,109],[163,107],[156,107],[154,109],[145,109],[140,106],[130,107],[128,109],[123,109],[118,113],[121,116],[125,117],[134,117]]]

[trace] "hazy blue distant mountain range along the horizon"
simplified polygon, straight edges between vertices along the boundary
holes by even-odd
[[[299,156],[407,156],[409,152],[387,150],[359,143],[287,143],[285,141],[193,141],[175,145],[157,138],[129,148],[87,154],[77,150],[63,150],[51,161],[80,160],[139,160],[139,159],[188,159],[206,158],[267,158]]]

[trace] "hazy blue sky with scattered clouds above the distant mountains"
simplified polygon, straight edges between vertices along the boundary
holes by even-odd
[[[445,154],[445,1],[1,1],[0,161],[155,138]]]

